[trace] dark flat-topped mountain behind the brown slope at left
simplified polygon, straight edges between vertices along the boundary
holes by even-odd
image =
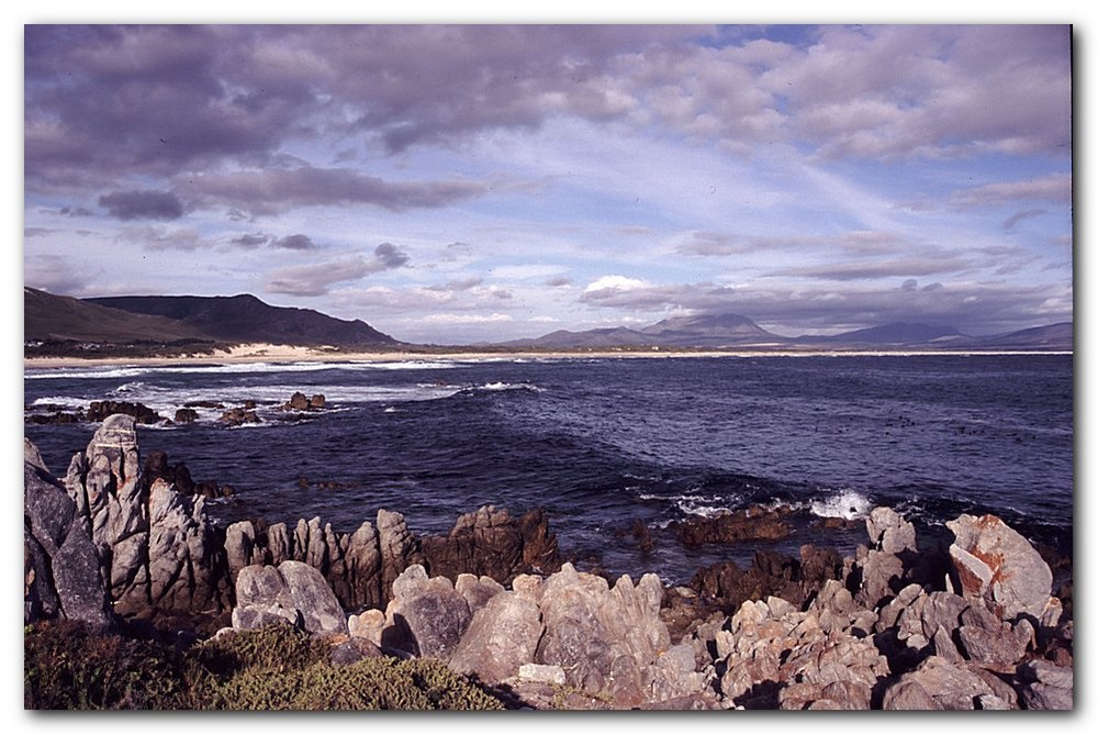
[[[361,320],[335,319],[312,309],[272,307],[250,294],[124,296],[85,299],[85,302],[133,314],[166,318],[222,342],[335,347],[400,344]]]

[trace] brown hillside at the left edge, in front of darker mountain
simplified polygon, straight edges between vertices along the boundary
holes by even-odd
[[[134,314],[38,289],[23,289],[23,339],[38,342],[176,342],[204,339],[165,316]]]

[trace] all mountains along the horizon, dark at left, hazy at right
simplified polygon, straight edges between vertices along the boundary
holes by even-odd
[[[414,347],[361,320],[312,309],[272,307],[250,294],[139,296],[75,299],[23,289],[24,342],[271,343],[341,348]],[[788,337],[737,314],[664,319],[649,326],[557,331],[496,349],[1020,349],[1071,350],[1071,322],[975,337],[949,325],[895,323],[830,336]]]

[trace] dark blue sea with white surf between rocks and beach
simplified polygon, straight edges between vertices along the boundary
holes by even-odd
[[[549,511],[563,550],[615,573],[688,578],[743,548],[682,547],[669,522],[782,501],[803,543],[850,553],[864,532],[824,532],[821,516],[875,504],[920,528],[996,513],[1031,539],[1069,550],[1071,356],[843,356],[111,367],[26,372],[25,403],[254,400],[265,419],[228,428],[141,427],[197,480],[236,490],[219,522],[321,516],[337,531],[404,513],[417,533],[448,531],[482,504]],[[300,390],[329,410],[285,414]],[[93,425],[26,425],[64,475]],[[307,488],[300,487],[307,478]],[[323,483],[325,487],[317,487]],[[656,541],[641,554],[636,520]]]

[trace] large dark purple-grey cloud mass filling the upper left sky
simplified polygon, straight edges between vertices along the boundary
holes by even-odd
[[[400,151],[623,112],[606,64],[687,26],[27,25],[26,181],[267,165],[292,137]],[[344,148],[346,153],[346,148]]]

